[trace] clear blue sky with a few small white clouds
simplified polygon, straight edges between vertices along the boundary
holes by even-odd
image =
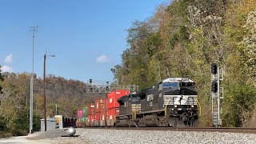
[[[0,1],[0,65],[2,71],[32,71],[42,78],[43,54],[46,74],[88,82],[112,81],[110,69],[121,64],[129,46],[127,29],[135,20],[154,15],[170,0],[2,0]]]

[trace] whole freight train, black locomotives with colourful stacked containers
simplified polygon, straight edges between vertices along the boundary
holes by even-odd
[[[166,78],[140,91],[121,91],[115,90],[106,100],[97,99],[95,104],[84,107],[91,110],[85,126],[198,125],[198,93],[189,78]]]

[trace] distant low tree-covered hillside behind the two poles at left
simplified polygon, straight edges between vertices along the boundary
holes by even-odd
[[[3,73],[0,94],[0,128],[2,130],[28,130],[30,113],[30,74]],[[86,94],[86,84],[78,80],[67,80],[49,75],[46,77],[46,115],[58,114],[76,117],[76,110],[95,98],[106,97],[106,94]],[[39,119],[43,118],[43,85],[42,78],[34,76],[34,130],[38,129]],[[21,122],[22,121],[22,122]]]

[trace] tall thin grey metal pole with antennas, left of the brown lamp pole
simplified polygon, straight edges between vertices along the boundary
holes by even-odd
[[[32,31],[32,73],[30,78],[30,134],[33,130],[33,82],[34,82],[34,34],[38,33],[38,26],[30,26]]]

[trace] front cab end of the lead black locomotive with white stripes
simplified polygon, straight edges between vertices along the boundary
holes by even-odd
[[[194,126],[198,119],[198,92],[189,78],[167,78],[159,83],[162,106],[170,126]]]

